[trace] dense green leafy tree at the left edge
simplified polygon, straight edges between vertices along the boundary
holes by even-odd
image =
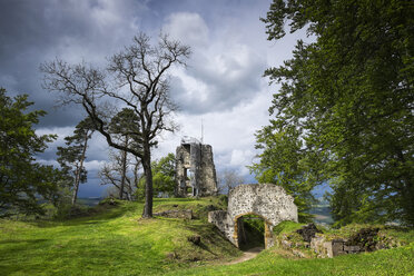
[[[42,214],[40,199],[58,200],[60,171],[36,161],[56,136],[36,134],[33,125],[46,112],[28,111],[32,103],[27,95],[11,98],[0,88],[0,217]]]

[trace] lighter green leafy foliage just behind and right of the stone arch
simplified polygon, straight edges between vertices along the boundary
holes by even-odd
[[[302,149],[303,141],[295,127],[283,127],[275,120],[270,124],[256,134],[256,148],[263,152],[258,156],[260,161],[250,169],[259,183],[279,185],[293,195],[300,221],[309,221],[313,216],[308,211],[315,203],[312,190],[322,184],[314,174],[317,158]]]

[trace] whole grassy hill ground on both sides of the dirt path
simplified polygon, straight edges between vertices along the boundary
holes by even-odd
[[[142,203],[100,204],[70,220],[0,220],[0,275],[414,275],[411,244],[333,259],[299,259],[272,248],[241,255],[206,221],[217,198],[155,199],[155,211],[193,209],[198,219],[140,219]],[[188,237],[198,235],[195,245]]]

